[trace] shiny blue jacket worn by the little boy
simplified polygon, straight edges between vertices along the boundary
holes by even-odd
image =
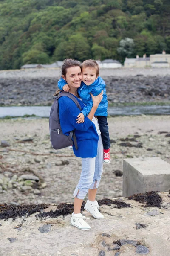
[[[60,90],[62,90],[62,87],[65,84],[67,84],[67,82],[63,78],[59,79],[58,87]],[[88,116],[93,106],[93,100],[91,98],[90,93],[92,93],[94,96],[97,96],[99,93],[102,92],[102,90],[103,90],[103,99],[100,102],[94,114],[95,116],[108,116],[108,100],[106,95],[105,81],[101,78],[101,76],[98,76],[98,78],[91,85],[87,86],[83,81],[81,82],[81,85],[78,88],[78,93],[83,103],[86,105],[82,110],[82,113],[84,114],[85,117]]]

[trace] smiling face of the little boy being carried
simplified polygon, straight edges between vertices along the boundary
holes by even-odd
[[[90,68],[90,67],[82,68],[82,81],[87,86],[93,84],[94,81],[98,78],[98,76],[96,76],[96,69],[95,68]]]

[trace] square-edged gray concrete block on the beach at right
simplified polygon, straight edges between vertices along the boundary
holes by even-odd
[[[170,164],[159,157],[123,160],[123,196],[170,188]]]

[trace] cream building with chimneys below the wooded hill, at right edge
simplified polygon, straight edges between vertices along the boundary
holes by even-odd
[[[154,54],[150,57],[144,54],[143,58],[139,58],[139,55],[136,55],[136,58],[126,58],[124,67],[170,67],[170,54],[163,51],[162,54]]]

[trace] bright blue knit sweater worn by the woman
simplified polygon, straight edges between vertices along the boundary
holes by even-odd
[[[85,107],[84,103],[76,96],[80,106]],[[67,96],[62,96],[58,100],[59,102],[59,119],[62,128],[62,132],[65,135],[69,135],[70,131],[75,131],[77,138],[78,149],[75,149],[73,144],[73,151],[77,157],[96,157],[97,155],[97,143],[99,135],[97,134],[96,127],[88,117],[85,117],[84,123],[77,123],[76,119],[80,113],[74,101]]]

